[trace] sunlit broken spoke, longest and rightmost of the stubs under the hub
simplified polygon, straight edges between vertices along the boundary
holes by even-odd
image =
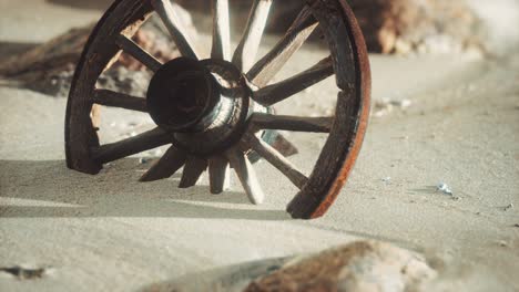
[[[234,171],[236,171],[236,175],[251,202],[255,205],[262,204],[265,196],[263,195],[263,190],[257,181],[256,171],[254,171],[248,158],[237,148],[227,150],[226,156],[231,166],[234,168]]]

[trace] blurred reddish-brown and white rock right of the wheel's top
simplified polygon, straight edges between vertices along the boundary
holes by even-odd
[[[475,40],[479,22],[462,0],[349,1],[373,52],[460,52]]]

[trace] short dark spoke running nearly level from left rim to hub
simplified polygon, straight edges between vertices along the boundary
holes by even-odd
[[[93,95],[93,102],[100,105],[114,106],[147,113],[145,98],[135,97],[114,91],[95,90]]]

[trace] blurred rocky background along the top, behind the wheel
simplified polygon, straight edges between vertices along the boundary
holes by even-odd
[[[274,1],[267,32],[273,35],[284,33],[303,2]],[[212,20],[206,13],[210,10],[207,1],[180,0],[176,3],[182,6],[179,10],[184,12],[184,22],[189,23],[192,34],[210,34]],[[513,52],[519,42],[519,32],[515,29],[519,22],[519,3],[516,0],[349,0],[348,3],[372,53],[496,58]],[[110,0],[30,0],[20,3],[0,0],[3,11],[0,20],[0,75],[51,95],[67,95],[71,71],[86,36],[110,4]],[[75,10],[68,14],[68,9]],[[78,13],[77,9],[83,12]],[[232,35],[236,41],[247,19],[250,2],[232,0],[231,10]],[[40,12],[30,14],[24,11]],[[196,19],[195,23],[193,19]],[[13,25],[26,20],[31,24]],[[74,31],[68,31],[71,28]],[[163,59],[175,55],[161,24],[146,29],[135,36],[141,45]],[[162,32],[157,33],[157,29]],[[311,41],[317,40],[317,44],[325,45],[318,42],[318,34],[317,30]],[[50,40],[47,45],[38,45]],[[27,51],[30,52],[20,54]],[[122,63],[130,70],[143,69],[128,56]],[[32,72],[28,72],[28,67],[32,67]]]

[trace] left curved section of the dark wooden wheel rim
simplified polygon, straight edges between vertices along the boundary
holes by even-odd
[[[72,79],[65,113],[67,166],[86,174],[98,174],[102,165],[94,160],[92,148],[99,137],[91,119],[92,95],[100,74],[118,58],[115,36],[122,30],[133,34],[151,11],[149,2],[115,1],[95,25],[81,54]]]

